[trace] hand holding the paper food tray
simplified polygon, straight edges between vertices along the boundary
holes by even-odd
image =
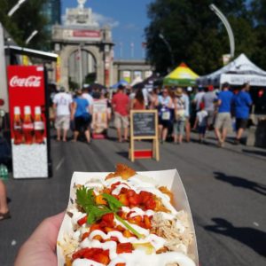
[[[20,247],[15,266],[56,266],[55,254],[59,228],[65,212],[43,220],[27,241]]]

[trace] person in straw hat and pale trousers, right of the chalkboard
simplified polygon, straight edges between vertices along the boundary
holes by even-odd
[[[175,106],[175,120],[174,120],[174,142],[175,144],[182,144],[184,136],[184,126],[185,126],[185,110],[186,102],[183,98],[182,88],[177,88],[176,98],[174,99]]]

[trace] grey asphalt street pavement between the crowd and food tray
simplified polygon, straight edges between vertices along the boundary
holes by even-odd
[[[0,222],[0,265],[13,264],[21,244],[43,218],[66,208],[74,171],[113,171],[117,162],[137,170],[176,168],[192,208],[201,266],[266,265],[266,150],[215,145],[160,145],[160,161],[128,160],[128,143],[110,139],[62,143],[51,140],[53,176],[6,182],[12,219]],[[137,142],[137,145],[143,145]],[[147,143],[145,143],[147,145]],[[47,232],[49,233],[49,232]]]

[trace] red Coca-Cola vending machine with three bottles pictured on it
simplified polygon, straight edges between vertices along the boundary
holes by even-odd
[[[43,66],[8,66],[14,178],[51,176],[45,76]]]

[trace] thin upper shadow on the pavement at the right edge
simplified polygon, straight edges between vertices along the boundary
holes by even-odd
[[[221,172],[214,172],[215,178],[233,186],[239,186],[266,196],[266,185],[246,180],[238,176],[227,176]]]

